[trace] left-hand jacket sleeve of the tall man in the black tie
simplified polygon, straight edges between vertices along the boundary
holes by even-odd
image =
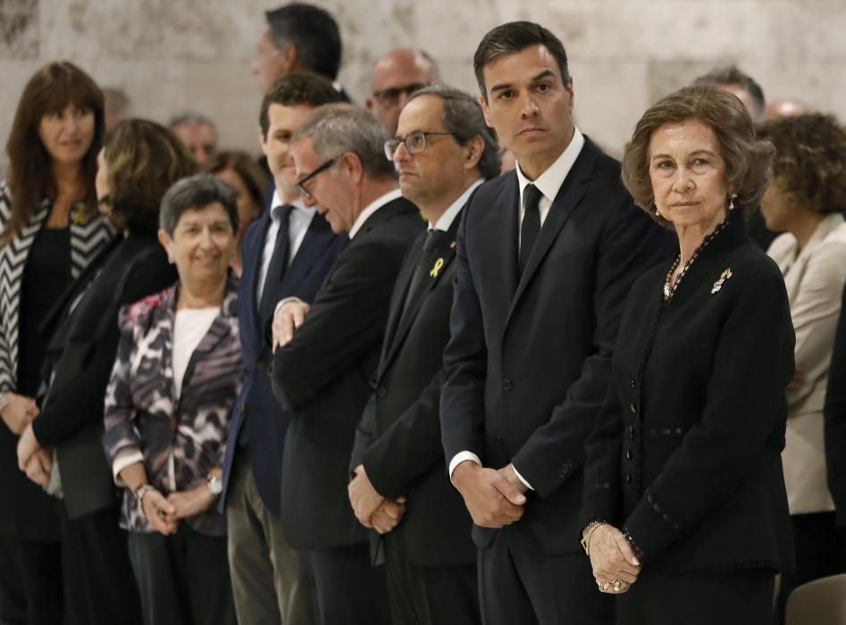
[[[444,350],[444,382],[440,391],[440,437],[447,463],[459,452],[484,460],[485,379],[488,347],[482,306],[473,286],[466,254],[466,230],[473,198],[462,211],[458,227],[457,272],[449,313],[450,338]]]

